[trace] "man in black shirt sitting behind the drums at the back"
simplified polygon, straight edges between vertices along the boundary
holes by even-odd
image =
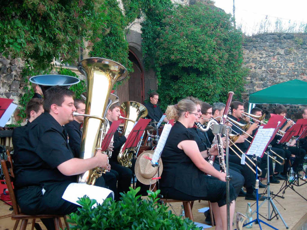
[[[149,99],[150,99],[150,102],[145,104],[145,107],[148,111],[147,118],[150,118],[151,121],[160,121],[161,117],[163,116],[163,113],[159,105],[157,105],[159,94],[156,92],[153,92],[149,94]],[[163,121],[168,122],[166,117],[163,119]]]

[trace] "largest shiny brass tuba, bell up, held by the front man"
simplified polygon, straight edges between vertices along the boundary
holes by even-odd
[[[87,58],[78,64],[79,71],[87,78],[87,96],[83,134],[80,146],[80,158],[88,159],[101,149],[103,131],[106,125],[107,109],[117,100],[112,98],[111,90],[116,82],[127,76],[127,70],[121,64],[104,58]],[[75,113],[75,115],[81,115]],[[79,183],[94,185],[101,175],[101,169],[94,168],[78,176]]]

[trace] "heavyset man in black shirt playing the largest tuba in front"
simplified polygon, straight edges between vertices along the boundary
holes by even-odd
[[[89,159],[72,155],[63,125],[73,120],[74,93],[66,87],[53,86],[44,96],[45,113],[28,125],[17,143],[16,198],[22,213],[65,215],[78,207],[62,198],[67,186],[76,182],[76,175],[95,167],[110,169],[110,166],[107,155],[100,150]],[[42,221],[47,229],[54,229],[50,219]]]

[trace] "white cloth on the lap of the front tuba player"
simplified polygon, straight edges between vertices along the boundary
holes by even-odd
[[[79,197],[87,195],[88,197],[90,197],[90,199],[95,199],[98,204],[102,204],[110,193],[112,194],[114,199],[114,192],[112,190],[83,183],[71,183],[67,186],[62,198],[73,204],[80,205],[77,203]],[[93,205],[93,207],[96,206],[97,204]]]

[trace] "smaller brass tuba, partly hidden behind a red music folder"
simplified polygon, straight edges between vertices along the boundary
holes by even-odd
[[[128,135],[132,131],[135,122],[137,122],[141,118],[146,117],[148,114],[148,111],[144,105],[132,101],[123,102],[121,105],[121,110],[125,114],[122,136]],[[122,166],[131,167],[133,152],[136,152],[136,149],[130,149],[132,152],[128,152],[127,150],[124,150],[123,147],[124,146],[120,148],[119,154],[117,155],[117,161]]]

